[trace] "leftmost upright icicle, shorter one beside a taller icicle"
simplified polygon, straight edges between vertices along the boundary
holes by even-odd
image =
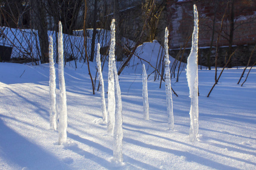
[[[49,36],[49,122],[50,128],[57,130],[57,108],[56,108],[56,73],[53,61],[53,42]]]

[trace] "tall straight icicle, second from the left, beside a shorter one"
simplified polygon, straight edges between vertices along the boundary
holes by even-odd
[[[59,118],[59,145],[67,141],[67,98],[64,79],[64,59],[63,59],[63,35],[62,25],[59,22],[58,36],[58,52],[59,52],[59,86],[60,86],[60,118]]]

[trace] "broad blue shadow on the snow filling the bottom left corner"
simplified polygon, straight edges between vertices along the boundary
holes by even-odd
[[[0,152],[9,164],[28,169],[70,169],[55,156],[31,143],[0,119]]]

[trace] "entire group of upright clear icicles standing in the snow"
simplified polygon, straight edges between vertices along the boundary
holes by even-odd
[[[114,138],[113,160],[117,163],[123,162],[122,156],[122,99],[121,90],[118,81],[117,67],[115,65],[115,20],[111,24],[111,44],[109,52],[109,75],[108,75],[108,112],[106,111],[104,81],[101,74],[100,61],[100,44],[97,49],[97,67],[101,86],[101,108],[102,120],[107,122],[107,131]],[[170,78],[170,60],[168,54],[168,29],[166,28],[164,36],[164,79],[166,82],[166,102],[168,115],[168,129],[174,130],[174,113],[172,105],[171,93],[171,78]],[[53,130],[57,129],[57,109],[56,109],[56,74],[53,61],[53,42],[52,36],[49,37],[49,87],[50,87],[50,127]],[[191,109],[189,112],[191,125],[189,129],[189,139],[197,141],[199,129],[198,117],[198,66],[197,66],[197,51],[198,51],[198,12],[194,5],[194,31],[192,36],[192,49],[188,57],[187,64],[187,79],[189,87],[189,97],[191,97]],[[65,91],[64,79],[64,59],[63,59],[63,34],[62,25],[59,22],[58,36],[58,53],[59,53],[59,87],[60,87],[60,112],[59,112],[59,145],[67,141],[67,97]],[[143,110],[144,119],[148,120],[148,93],[147,93],[147,73],[143,64]]]

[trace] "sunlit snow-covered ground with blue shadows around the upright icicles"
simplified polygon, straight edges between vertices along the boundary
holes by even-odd
[[[150,50],[144,55],[150,57]],[[124,164],[117,167],[113,138],[97,123],[100,92],[92,95],[87,67],[77,65],[65,67],[68,142],[58,145],[57,131],[49,129],[49,65],[0,63],[0,169],[256,169],[256,67],[243,87],[237,84],[243,68],[225,70],[210,97],[214,70],[199,70],[199,141],[189,142],[185,71],[178,83],[172,79],[179,97],[172,96],[175,130],[170,131],[164,85],[159,88],[154,74],[148,78],[150,120],[144,120],[141,66],[134,71],[130,65],[119,76]],[[93,75],[95,67],[90,63]],[[107,63],[103,78],[108,87]],[[56,85],[59,104],[58,79]]]

